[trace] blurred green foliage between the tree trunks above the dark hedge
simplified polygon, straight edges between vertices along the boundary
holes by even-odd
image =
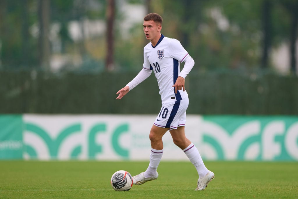
[[[146,9],[159,13],[164,19],[162,34],[181,41],[203,71],[223,68],[251,70],[263,67],[261,60],[264,56],[262,49],[265,47],[265,36],[270,37],[269,44],[266,44],[269,45],[266,46],[269,50],[283,42],[292,42],[290,31],[293,16],[288,7],[297,4],[294,0],[273,0],[268,1],[268,4],[265,4],[267,0],[116,1],[115,70],[140,70],[143,63],[142,48],[148,42],[142,31],[142,20],[132,26],[124,24],[129,23],[125,21],[125,13],[130,12],[121,9],[125,2],[144,7],[149,2]],[[40,0],[0,2],[0,69],[40,68],[39,3]],[[264,6],[269,8],[269,36],[264,34]],[[81,31],[86,20],[104,22],[107,1],[51,0],[48,9],[51,28],[53,29],[54,24],[58,25],[58,39],[54,41],[49,38],[52,56],[70,56],[73,60],[80,60],[75,67],[71,67],[72,62],[64,64],[68,70],[79,68],[86,57],[93,60],[93,63],[99,62],[99,65],[105,62],[105,34],[85,35],[82,39],[73,40],[69,28],[72,22],[78,22]],[[123,35],[125,26],[130,27],[128,36]],[[57,45],[61,46],[58,50]],[[272,63],[270,60],[268,62],[269,69],[272,69]]]

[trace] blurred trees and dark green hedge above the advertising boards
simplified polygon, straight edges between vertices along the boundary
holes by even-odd
[[[156,12],[195,60],[188,113],[297,115],[297,10],[297,0],[1,0],[0,113],[156,114],[154,75],[116,100],[142,69],[143,18]]]

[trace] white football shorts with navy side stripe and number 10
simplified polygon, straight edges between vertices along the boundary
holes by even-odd
[[[175,104],[164,104],[154,121],[154,125],[162,128],[170,128],[169,130],[185,126],[188,103],[189,100],[186,97],[180,101],[176,101]]]

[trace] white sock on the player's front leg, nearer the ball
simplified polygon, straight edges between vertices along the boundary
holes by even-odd
[[[147,168],[147,170],[144,172],[145,178],[152,177],[156,174],[157,167],[159,165],[160,160],[162,159],[162,154],[163,154],[163,149],[162,150],[157,150],[157,149],[152,149],[151,148],[151,153],[150,153],[150,163]]]

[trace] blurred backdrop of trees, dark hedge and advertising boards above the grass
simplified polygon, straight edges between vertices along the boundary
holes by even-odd
[[[188,138],[206,160],[298,160],[297,0],[1,0],[0,159],[148,160],[143,18],[195,60]],[[183,63],[181,64],[181,68]],[[163,137],[164,160],[188,160]]]

